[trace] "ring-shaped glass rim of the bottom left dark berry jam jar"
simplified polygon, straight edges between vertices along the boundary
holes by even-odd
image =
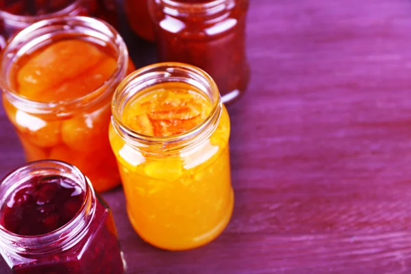
[[[60,169],[63,172],[63,169],[70,171],[70,175],[75,177],[73,182],[77,183],[78,186],[82,187],[84,191],[84,200],[82,201],[82,205],[80,206],[79,210],[73,216],[73,219],[59,227],[58,229],[53,230],[47,234],[40,234],[34,236],[24,236],[20,234],[16,234],[10,232],[8,229],[3,227],[0,223],[0,245],[5,244],[8,248],[18,251],[19,253],[47,253],[47,249],[55,249],[60,247],[60,245],[74,245],[75,242],[79,240],[83,236],[84,228],[88,227],[90,224],[90,220],[88,222],[82,221],[86,214],[89,215],[89,219],[92,219],[95,213],[95,190],[92,188],[92,184],[90,180],[81,172],[76,166],[69,164],[67,162],[63,162],[60,160],[38,160],[34,162],[28,162],[23,166],[19,166],[18,168],[10,171],[3,179],[0,181],[0,189],[6,186],[12,186],[6,190],[5,195],[0,199],[0,210],[2,210],[3,205],[7,202],[7,199],[10,198],[12,193],[16,191],[18,186],[25,184],[30,178],[30,175],[25,176],[22,179],[19,179],[17,182],[13,181],[13,177],[16,175],[22,175],[23,173],[29,172],[28,170],[33,166],[40,166],[39,171],[51,171],[52,169]],[[46,174],[42,174],[42,176],[47,176]],[[94,204],[94,205],[93,205]],[[27,242],[29,240],[35,240],[34,244],[32,245],[31,242]],[[12,244],[21,243],[23,242],[23,246],[13,247]],[[58,242],[60,245],[56,245]],[[10,245],[8,245],[10,243]]]

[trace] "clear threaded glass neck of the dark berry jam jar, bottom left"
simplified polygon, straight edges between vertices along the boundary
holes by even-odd
[[[39,236],[21,236],[9,232],[0,224],[0,246],[25,255],[43,255],[56,250],[69,249],[86,234],[94,217],[96,196],[88,179],[74,166],[55,160],[41,160],[25,164],[9,173],[0,183],[0,209],[6,199],[37,176],[60,175],[68,177],[84,191],[84,201],[75,217],[54,232]]]

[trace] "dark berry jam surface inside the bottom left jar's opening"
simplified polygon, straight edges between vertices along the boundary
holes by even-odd
[[[34,177],[8,198],[0,223],[14,234],[47,234],[69,223],[83,201],[84,191],[68,177]]]

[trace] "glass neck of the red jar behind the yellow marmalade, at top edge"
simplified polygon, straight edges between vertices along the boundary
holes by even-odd
[[[170,16],[195,16],[212,18],[221,16],[229,10],[232,10],[238,0],[214,0],[203,1],[200,3],[187,3],[178,0],[154,0],[154,3],[161,5],[164,14]]]

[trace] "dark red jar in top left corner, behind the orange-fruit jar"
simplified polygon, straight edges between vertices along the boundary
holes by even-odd
[[[45,19],[61,16],[95,16],[118,26],[115,0],[12,0],[0,2],[1,46],[17,32]]]

